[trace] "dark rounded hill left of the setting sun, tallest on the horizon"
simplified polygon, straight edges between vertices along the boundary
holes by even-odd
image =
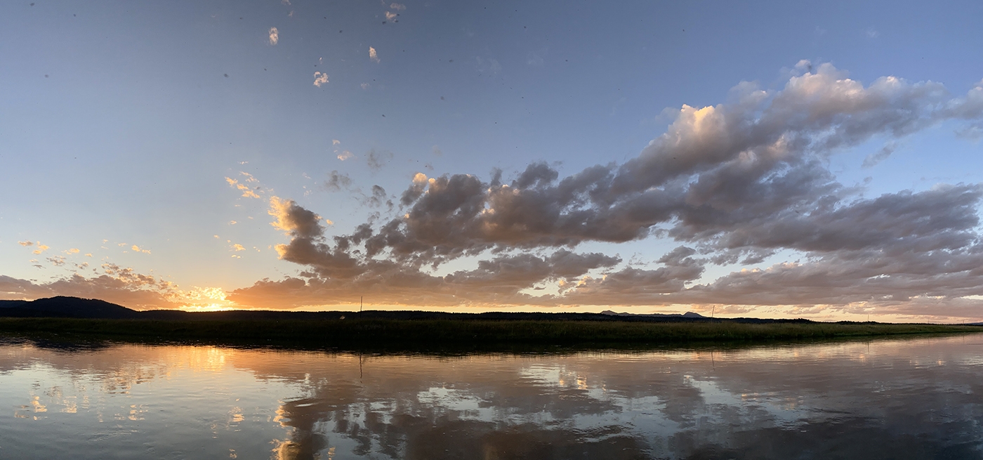
[[[0,301],[0,316],[137,318],[140,312],[98,299],[50,297],[34,301]]]

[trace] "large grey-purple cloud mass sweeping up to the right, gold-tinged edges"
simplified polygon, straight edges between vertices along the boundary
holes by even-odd
[[[741,83],[726,103],[683,105],[665,134],[622,164],[561,176],[534,162],[509,180],[501,172],[490,180],[419,173],[397,194],[401,215],[330,238],[314,212],[271,201],[274,226],[291,237],[277,253],[305,274],[231,296],[247,305],[273,298],[322,305],[362,292],[415,305],[863,305],[897,312],[912,303],[942,309],[948,299],[967,312],[979,303],[966,296],[983,295],[981,187],[862,198],[838,183],[828,160],[889,139],[865,161],[872,166],[905,136],[981,119],[980,85],[962,96],[896,77],[864,86],[830,64],[803,61],[781,89]],[[381,165],[375,152],[369,157],[371,167]],[[656,267],[572,251],[647,238],[681,246]],[[780,252],[800,261],[699,282],[708,264],[760,264]],[[434,274],[462,258],[478,258],[477,267]],[[549,294],[526,294],[545,283],[554,286]]]

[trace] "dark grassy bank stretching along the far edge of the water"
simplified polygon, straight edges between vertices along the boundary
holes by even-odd
[[[0,335],[82,334],[123,340],[229,341],[257,345],[271,342],[308,343],[342,348],[759,342],[953,332],[983,332],[983,327],[855,322],[750,324],[725,320],[629,322],[350,317],[318,320],[184,321],[0,318]]]

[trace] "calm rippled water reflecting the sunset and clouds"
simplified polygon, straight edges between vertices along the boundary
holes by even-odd
[[[0,458],[983,458],[983,335],[463,358],[7,343]]]

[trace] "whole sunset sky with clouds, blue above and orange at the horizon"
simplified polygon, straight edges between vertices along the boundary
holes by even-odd
[[[983,320],[983,4],[0,5],[0,298]]]

